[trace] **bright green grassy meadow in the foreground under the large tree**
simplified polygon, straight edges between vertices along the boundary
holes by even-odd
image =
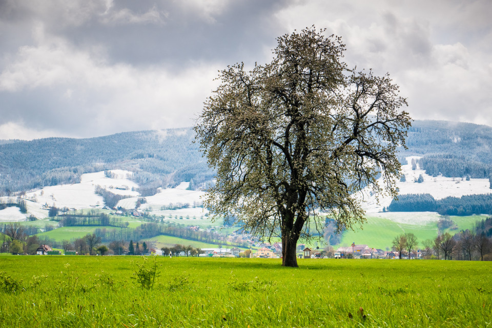
[[[147,289],[132,277],[152,272],[154,257],[0,256],[0,323],[20,327],[492,325],[489,262],[303,259],[298,269],[280,263],[278,259],[156,257],[157,275]]]

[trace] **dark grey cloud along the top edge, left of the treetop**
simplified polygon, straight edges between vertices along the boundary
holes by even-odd
[[[104,47],[113,63],[231,63],[255,57],[265,43],[274,44],[278,30],[272,16],[285,2],[231,1],[213,13],[214,22],[187,2],[115,1],[109,7],[102,1],[70,3],[77,5],[63,10],[58,2],[48,2],[49,8],[40,8],[38,2],[30,6],[8,2],[15,13],[8,22],[15,24],[23,17],[23,24],[32,24],[40,19],[48,33],[66,37],[77,47]],[[70,24],[73,20],[76,23]]]

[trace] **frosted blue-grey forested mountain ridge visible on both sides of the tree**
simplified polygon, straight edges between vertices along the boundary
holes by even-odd
[[[81,174],[105,169],[134,172],[142,195],[180,181],[200,188],[213,172],[193,140],[191,128],[87,139],[0,140],[0,192],[79,182]],[[416,120],[407,146],[399,157],[422,156],[420,167],[430,175],[488,178],[492,173],[492,128],[487,126]]]

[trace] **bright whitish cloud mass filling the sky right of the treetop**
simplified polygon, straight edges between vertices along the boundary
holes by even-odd
[[[345,60],[389,72],[417,119],[492,126],[490,2],[296,2],[277,19],[342,36]]]

